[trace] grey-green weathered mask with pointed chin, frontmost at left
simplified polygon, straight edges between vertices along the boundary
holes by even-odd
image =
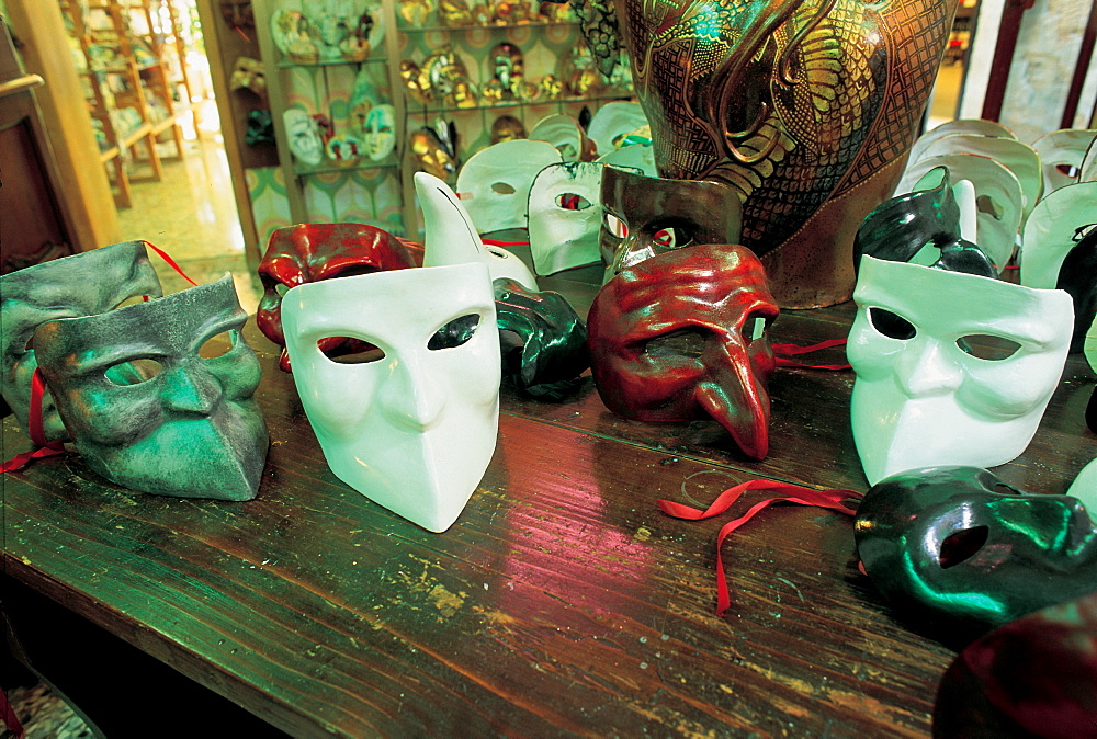
[[[39,327],[43,375],[88,466],[133,490],[255,498],[269,437],[252,398],[260,370],[240,336],[246,320],[226,275]],[[230,348],[203,356],[217,334]]]

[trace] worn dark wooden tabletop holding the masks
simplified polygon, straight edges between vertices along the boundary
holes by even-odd
[[[773,340],[840,338],[852,315],[787,311]],[[295,736],[929,731],[953,652],[858,571],[850,519],[778,507],[739,530],[717,617],[714,537],[732,515],[680,521],[655,502],[703,505],[754,478],[863,491],[852,373],[778,371],[761,463],[715,422],[618,418],[589,377],[562,403],[505,393],[493,463],[436,535],[336,479],[273,346],[250,336],[273,440],[257,500],[158,498],[73,454],[41,461],[4,479],[8,577]],[[1065,491],[1095,455],[1093,386],[1072,356],[1007,481]],[[29,447],[10,418],[3,440],[5,457]]]

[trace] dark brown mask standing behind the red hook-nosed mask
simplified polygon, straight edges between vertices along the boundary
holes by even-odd
[[[738,198],[713,182],[647,178],[613,167],[602,172],[600,249],[606,278],[645,259],[698,243],[738,243]]]

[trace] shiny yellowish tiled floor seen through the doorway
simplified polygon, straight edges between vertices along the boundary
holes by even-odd
[[[215,122],[188,127],[186,156],[165,161],[160,182],[134,183],[133,207],[120,209],[118,221],[124,240],[144,239],[162,249],[200,285],[230,272],[240,305],[251,314],[261,288],[245,258],[228,160]],[[171,145],[168,150],[173,149]],[[190,287],[163,260],[149,257],[166,294]]]

